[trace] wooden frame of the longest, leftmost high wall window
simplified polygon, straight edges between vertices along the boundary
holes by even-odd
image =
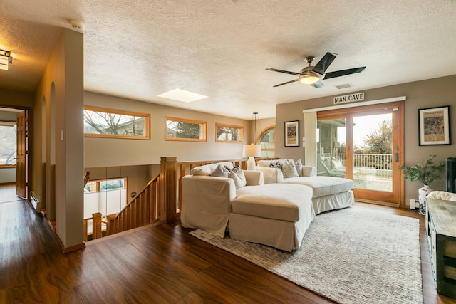
[[[150,140],[150,114],[139,113],[139,112],[130,112],[124,110],[115,110],[110,108],[100,108],[94,107],[91,105],[84,105],[84,116],[86,114],[86,110],[92,112],[105,112],[105,113],[112,113],[118,115],[128,115],[128,116],[135,116],[135,117],[143,117],[144,118],[144,128],[145,128],[145,135],[115,135],[115,134],[100,134],[100,133],[86,133],[84,130],[84,137],[103,137],[103,138],[119,138],[119,139],[129,139],[129,140]],[[85,119],[85,118],[84,118]]]

